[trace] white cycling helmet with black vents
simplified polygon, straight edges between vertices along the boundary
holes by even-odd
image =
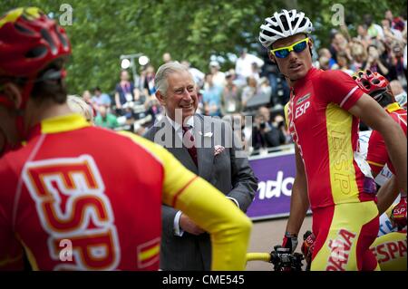
[[[280,13],[276,12],[272,17],[267,17],[260,28],[259,42],[268,48],[279,39],[295,34],[310,34],[313,24],[303,12],[283,9]]]

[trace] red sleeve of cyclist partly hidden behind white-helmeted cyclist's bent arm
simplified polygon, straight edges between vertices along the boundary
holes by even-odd
[[[388,152],[381,134],[373,130],[368,140],[367,162],[376,174],[378,174],[388,161]]]

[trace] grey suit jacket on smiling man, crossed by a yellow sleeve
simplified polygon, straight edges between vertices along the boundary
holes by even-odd
[[[257,191],[257,178],[249,167],[248,158],[242,157],[244,152],[241,142],[228,122],[199,114],[194,116],[194,139],[199,168],[167,118],[155,123],[144,137],[168,149],[187,169],[209,181],[226,196],[236,199],[239,208],[247,211]],[[225,149],[214,156],[216,145],[222,145]],[[174,217],[177,210],[165,205],[162,205],[161,209],[160,268],[209,270],[209,234],[194,236],[184,232],[182,236],[175,236]]]

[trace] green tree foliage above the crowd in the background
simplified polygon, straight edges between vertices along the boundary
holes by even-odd
[[[58,20],[63,3],[5,0],[0,7],[5,12],[35,5]],[[73,44],[67,66],[70,92],[94,86],[112,92],[119,79],[120,56],[127,53],[145,53],[158,67],[162,54],[169,52],[173,59],[189,60],[207,72],[213,54],[227,58],[243,47],[257,50],[260,24],[281,8],[304,11],[316,24],[316,38],[328,45],[330,30],[338,28],[331,24],[335,3],[344,5],[346,24],[362,23],[364,14],[372,14],[379,23],[386,9],[401,14],[407,5],[391,0],[375,4],[371,0],[72,0],[68,4],[73,7],[73,24],[64,26]]]

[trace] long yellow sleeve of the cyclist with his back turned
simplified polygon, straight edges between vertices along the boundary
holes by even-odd
[[[217,188],[199,178],[169,151],[150,140],[128,134],[159,159],[164,169],[164,204],[175,207],[209,232],[212,270],[244,270],[251,222]]]

